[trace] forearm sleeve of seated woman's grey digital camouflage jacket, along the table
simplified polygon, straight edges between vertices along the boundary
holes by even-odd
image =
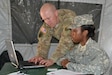
[[[99,59],[94,59],[93,61],[90,62],[90,64],[78,64],[78,63],[69,62],[66,65],[66,67],[67,69],[76,71],[76,72],[101,75],[107,70],[104,67],[105,65],[109,65],[108,59],[105,59],[103,61]]]

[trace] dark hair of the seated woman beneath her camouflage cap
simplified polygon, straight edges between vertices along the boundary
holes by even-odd
[[[89,37],[92,38],[95,35],[95,27],[94,27],[94,25],[82,25],[81,30],[82,30],[82,32],[84,30],[88,30],[88,35],[87,35],[88,38]]]

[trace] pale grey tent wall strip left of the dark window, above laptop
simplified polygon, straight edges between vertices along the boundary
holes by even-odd
[[[0,54],[5,50],[4,39],[11,39],[10,1],[0,0]]]

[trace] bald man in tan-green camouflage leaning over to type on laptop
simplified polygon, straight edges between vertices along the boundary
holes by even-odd
[[[50,66],[56,60],[64,55],[67,50],[71,50],[74,46],[70,37],[68,26],[72,24],[76,14],[68,9],[56,10],[55,6],[45,3],[40,9],[40,15],[44,21],[38,33],[37,56],[30,59],[30,62],[40,62]],[[47,59],[51,45],[51,39],[55,37],[59,40],[59,44],[50,59]]]

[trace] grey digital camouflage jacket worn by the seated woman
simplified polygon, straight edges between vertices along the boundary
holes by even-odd
[[[75,72],[82,72],[86,74],[101,75],[104,74],[109,67],[110,60],[104,50],[98,47],[98,44],[91,38],[87,41],[85,46],[80,44],[61,57],[57,64],[61,65],[63,59],[68,59],[66,67]]]

